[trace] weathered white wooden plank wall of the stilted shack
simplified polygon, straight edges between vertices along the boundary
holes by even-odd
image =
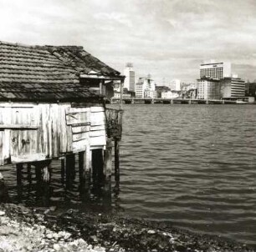
[[[0,165],[59,158],[105,145],[103,107],[0,103]]]

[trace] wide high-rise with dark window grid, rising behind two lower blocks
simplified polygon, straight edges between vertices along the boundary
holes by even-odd
[[[200,65],[200,78],[223,79],[231,77],[231,63],[202,63]]]

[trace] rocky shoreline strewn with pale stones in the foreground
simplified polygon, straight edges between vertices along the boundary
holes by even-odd
[[[117,214],[0,204],[0,251],[243,252],[243,244]]]

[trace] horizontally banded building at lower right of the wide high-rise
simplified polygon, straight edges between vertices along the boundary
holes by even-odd
[[[236,98],[245,96],[245,82],[241,78],[223,78],[221,81],[221,94],[223,98]]]

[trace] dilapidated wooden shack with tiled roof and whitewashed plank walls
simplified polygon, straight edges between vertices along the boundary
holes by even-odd
[[[121,111],[105,108],[114,80],[124,77],[82,47],[0,42],[0,165],[17,164],[18,175],[34,165],[47,182],[52,159],[67,170],[78,154],[82,178],[94,163],[109,178],[120,139],[110,127],[120,129]]]

